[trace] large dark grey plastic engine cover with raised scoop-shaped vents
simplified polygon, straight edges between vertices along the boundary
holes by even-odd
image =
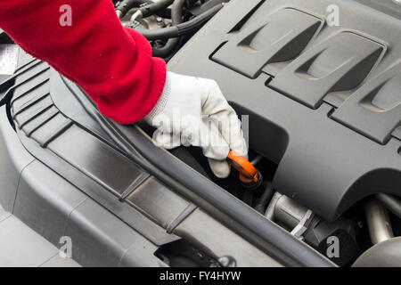
[[[340,26],[326,20],[331,5]],[[299,32],[314,19],[313,37]],[[217,80],[250,115],[250,148],[278,164],[274,188],[333,220],[373,193],[401,195],[400,34],[400,20],[355,1],[233,0],[168,68]],[[281,58],[267,37],[304,45]]]

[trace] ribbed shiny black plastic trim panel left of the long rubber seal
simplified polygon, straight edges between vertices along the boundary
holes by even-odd
[[[154,244],[178,239],[163,227],[174,223],[189,202],[108,143],[110,138],[96,129],[82,107],[77,106],[55,70],[43,61],[32,61],[12,82],[7,89],[12,94],[10,112],[20,141],[29,153]],[[60,101],[63,110],[69,110],[67,113],[80,123],[59,109],[55,102]],[[38,181],[42,179],[46,177],[37,177]],[[141,201],[139,205],[130,196],[136,190],[149,188],[148,203]],[[149,202],[160,196],[172,206],[163,208],[164,212]]]

